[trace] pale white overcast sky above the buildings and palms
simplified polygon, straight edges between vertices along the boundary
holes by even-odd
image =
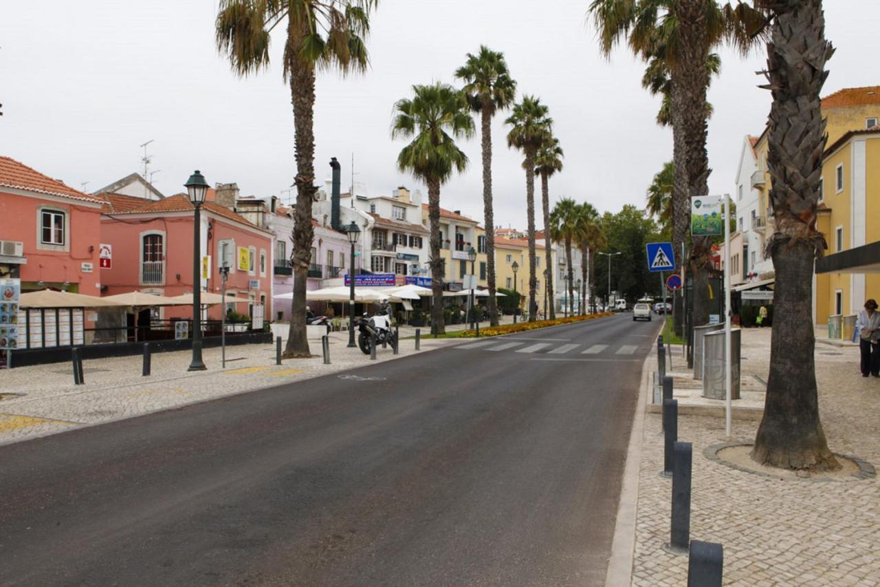
[[[143,173],[139,145],[152,140],[153,181],[166,195],[181,191],[194,168],[212,184],[238,182],[243,195],[283,195],[296,167],[282,37],[269,71],[237,78],[216,52],[217,4],[2,0],[0,154],[77,189],[88,182],[93,191]],[[389,136],[393,104],[411,95],[411,85],[454,83],[465,54],[483,43],[504,52],[520,94],[538,95],[550,108],[565,150],[565,169],[550,182],[552,201],[588,200],[600,211],[643,206],[652,175],[671,159],[671,131],[655,123],[659,100],[642,90],[643,64],[624,49],[610,59],[599,54],[588,4],[381,0],[368,41],[370,71],[319,77],[317,176],[329,175],[335,156],[347,185],[354,154],[356,182],[370,196],[397,185],[424,193],[396,169],[404,143]],[[825,12],[837,53],[823,95],[880,84],[880,2],[825,0]],[[770,100],[754,73],[765,63],[763,48],[746,59],[721,53],[722,75],[709,93],[713,193],[732,192],[743,137],[763,130]],[[507,148],[505,116],[493,127],[495,220],[525,227],[522,155]],[[471,165],[444,185],[441,203],[482,219],[479,136],[462,147]]]

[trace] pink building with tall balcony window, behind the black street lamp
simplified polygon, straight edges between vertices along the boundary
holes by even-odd
[[[210,189],[209,192],[214,192]],[[121,194],[102,194],[106,204],[101,238],[113,247],[113,264],[101,270],[104,295],[141,290],[166,296],[193,291],[193,205],[185,194],[158,201]],[[255,227],[236,212],[217,204],[209,193],[202,205],[203,291],[220,293],[219,268],[229,267],[226,290],[249,300],[229,308],[248,315],[254,302],[272,316],[272,234]],[[207,277],[206,277],[207,276]],[[190,317],[187,307],[157,308],[154,318]],[[208,317],[220,319],[223,309],[209,308]],[[143,316],[139,317],[139,322]]]

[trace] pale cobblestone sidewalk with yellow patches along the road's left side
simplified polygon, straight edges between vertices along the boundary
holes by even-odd
[[[454,338],[423,338],[418,352],[460,342]],[[194,373],[187,372],[190,351],[153,354],[152,375],[148,377],[141,376],[140,355],[84,360],[84,385],[74,385],[70,362],[3,370],[0,444],[368,367],[416,353],[414,340],[401,340],[399,355],[393,355],[390,346],[380,347],[377,360],[372,361],[360,349],[347,348],[348,332],[334,332],[330,343],[330,365],[315,356],[284,360],[276,366],[275,347],[267,344],[227,347],[225,369],[221,369],[220,349],[205,349],[208,370]],[[310,340],[309,345],[312,353],[320,354],[320,340]]]

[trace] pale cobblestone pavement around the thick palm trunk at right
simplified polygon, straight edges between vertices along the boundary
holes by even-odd
[[[769,329],[744,331],[743,376],[766,380],[770,334]],[[877,466],[880,380],[861,376],[856,348],[819,340],[816,360],[820,414],[832,451]],[[653,361],[650,369],[656,368]],[[733,420],[730,440],[753,442],[758,425]],[[691,539],[723,545],[725,585],[880,585],[876,477],[782,480],[715,463],[703,450],[728,440],[723,418],[680,416],[678,439],[693,443]],[[670,534],[671,479],[659,475],[660,414],[645,414],[641,459],[631,583],[685,585],[687,556],[663,549]]]

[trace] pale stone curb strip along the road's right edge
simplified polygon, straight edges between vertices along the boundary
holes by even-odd
[[[651,388],[649,362],[652,356],[652,353],[648,353],[642,363],[642,389],[636,400],[633,427],[629,434],[627,462],[623,469],[620,502],[614,520],[614,537],[611,543],[611,556],[608,558],[608,569],[605,572],[605,587],[630,587],[633,582],[639,470],[642,466],[642,433],[645,427],[645,404]]]

